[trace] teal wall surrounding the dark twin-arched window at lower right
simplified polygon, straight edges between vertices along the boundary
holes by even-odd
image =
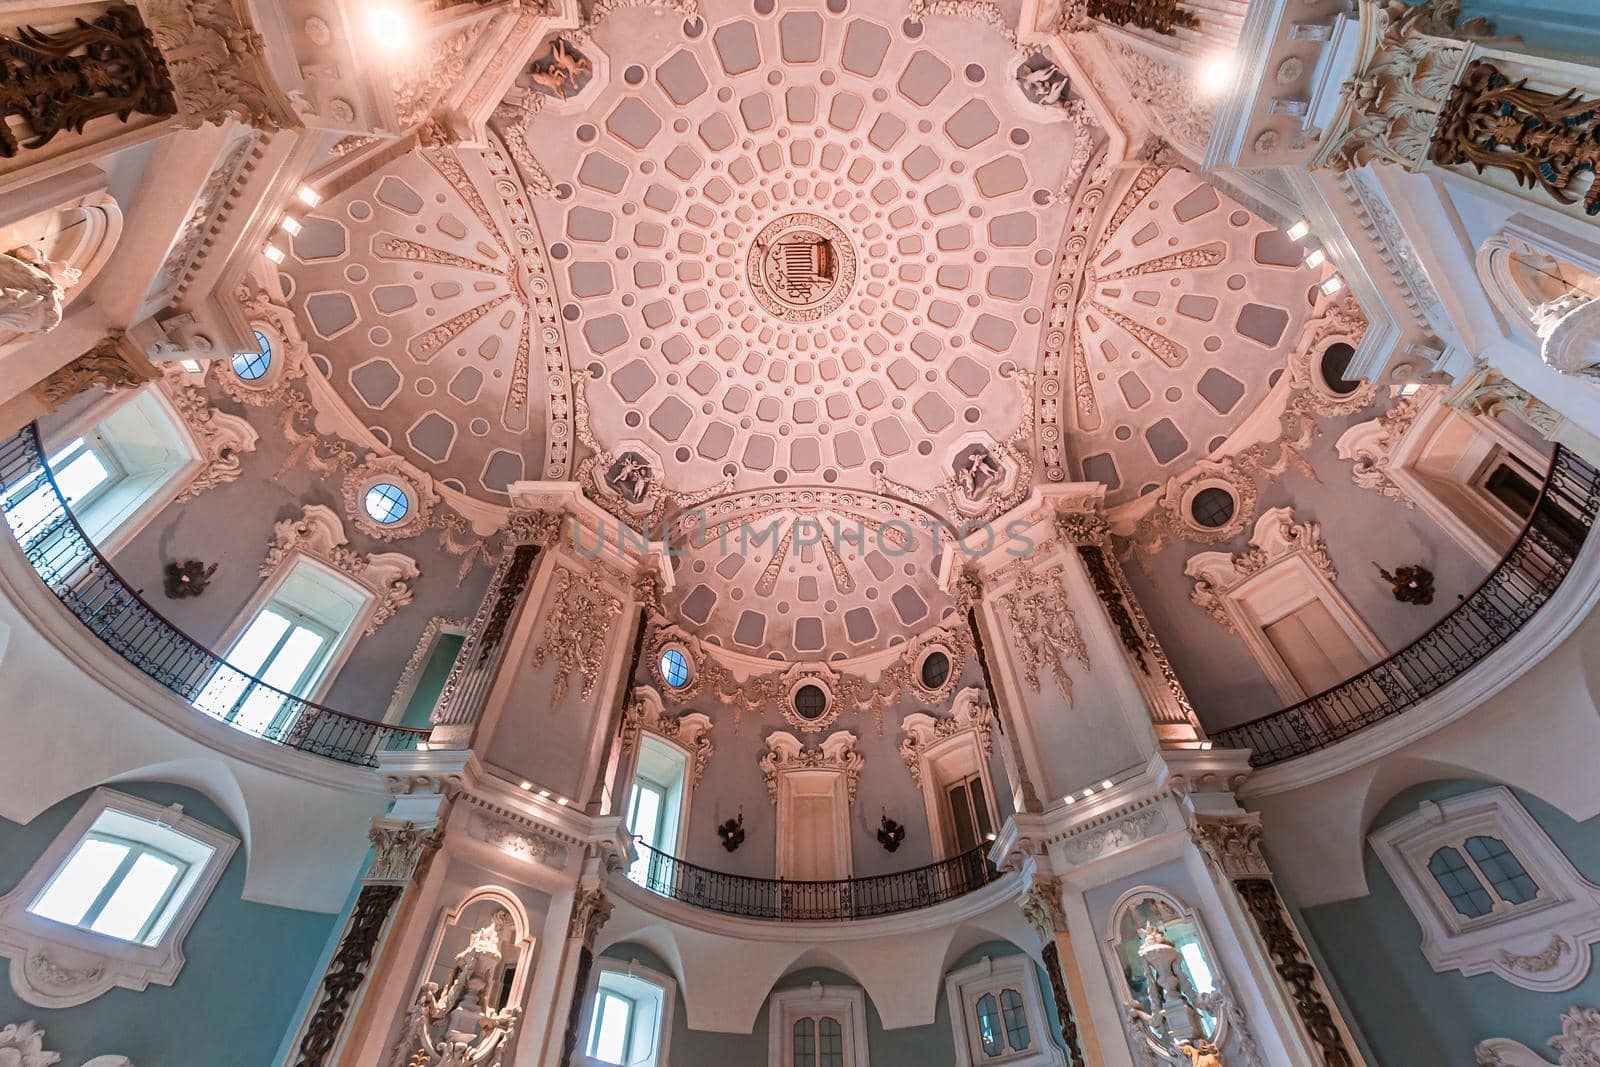
[[[1424,800],[1486,785],[1478,781],[1414,785],[1384,805],[1373,829],[1416,811]],[[1600,881],[1600,819],[1574,822],[1536,797],[1515,795],[1579,873]],[[1366,885],[1368,896],[1309,907],[1302,917],[1381,1067],[1470,1064],[1474,1046],[1488,1037],[1544,1049],[1546,1040],[1560,1032],[1562,1013],[1570,1005],[1600,1005],[1595,971],[1562,993],[1534,993],[1493,974],[1435,974],[1422,958],[1421,926],[1370,846]]]

